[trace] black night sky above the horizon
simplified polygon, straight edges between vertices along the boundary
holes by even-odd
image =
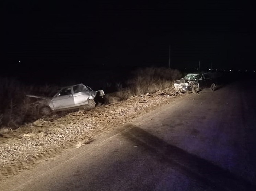
[[[169,45],[172,68],[255,70],[250,1],[1,4],[1,75],[167,67]]]

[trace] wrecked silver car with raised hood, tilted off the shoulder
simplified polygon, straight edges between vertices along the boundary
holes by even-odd
[[[83,108],[91,110],[95,108],[95,99],[103,98],[105,95],[103,90],[93,91],[89,86],[84,84],[76,84],[72,86],[62,87],[56,90],[48,97],[26,95],[36,98],[31,108],[39,115],[50,115],[53,111],[63,111],[75,108]]]

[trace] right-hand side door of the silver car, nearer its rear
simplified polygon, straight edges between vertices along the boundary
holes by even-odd
[[[74,90],[74,104],[80,106],[88,103],[88,98],[91,96],[92,91],[85,85],[78,84],[73,87]]]

